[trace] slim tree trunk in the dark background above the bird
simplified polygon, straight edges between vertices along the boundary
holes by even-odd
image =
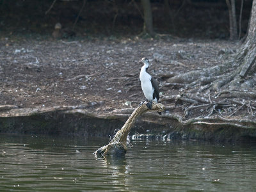
[[[153,29],[153,19],[152,19],[152,10],[150,0],[141,0],[144,13],[144,25],[143,33],[148,33],[150,36],[155,36],[156,33]]]

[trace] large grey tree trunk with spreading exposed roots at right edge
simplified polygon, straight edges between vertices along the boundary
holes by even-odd
[[[233,116],[246,107],[247,111],[244,113],[255,118],[256,0],[253,0],[250,18],[247,38],[237,50],[237,54],[232,54],[222,65],[170,77],[166,85],[179,84],[179,97],[165,95],[162,100],[175,98],[182,106],[188,106],[184,107],[185,118],[189,118],[189,114],[193,114],[196,109],[205,111],[203,116],[211,116],[214,113],[221,115],[220,111],[225,111],[227,116]],[[220,97],[225,99],[220,102]],[[237,100],[243,100],[239,103],[240,107],[237,106]]]

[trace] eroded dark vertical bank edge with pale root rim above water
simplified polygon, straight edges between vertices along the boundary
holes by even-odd
[[[120,129],[134,109],[97,113],[83,106],[10,109],[0,113],[1,133],[54,134],[78,137],[109,137]],[[132,140],[254,140],[256,121],[205,117],[182,120],[179,115],[148,112],[131,130]]]

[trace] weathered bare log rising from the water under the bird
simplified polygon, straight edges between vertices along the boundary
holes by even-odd
[[[122,157],[125,155],[127,151],[127,136],[132,128],[132,125],[136,122],[137,118],[142,115],[143,113],[149,111],[150,109],[147,108],[146,104],[142,104],[136,108],[132,115],[128,118],[125,122],[122,129],[116,132],[113,140],[111,140],[108,145],[104,145],[103,147],[98,148],[95,151],[95,156],[97,157],[104,157],[104,156],[116,156]],[[165,107],[163,104],[153,104],[152,109],[153,111],[164,111]]]

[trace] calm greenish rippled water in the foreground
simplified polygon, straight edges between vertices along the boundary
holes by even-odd
[[[256,145],[132,141],[125,159],[95,159],[108,140],[0,136],[0,191],[256,191]]]

